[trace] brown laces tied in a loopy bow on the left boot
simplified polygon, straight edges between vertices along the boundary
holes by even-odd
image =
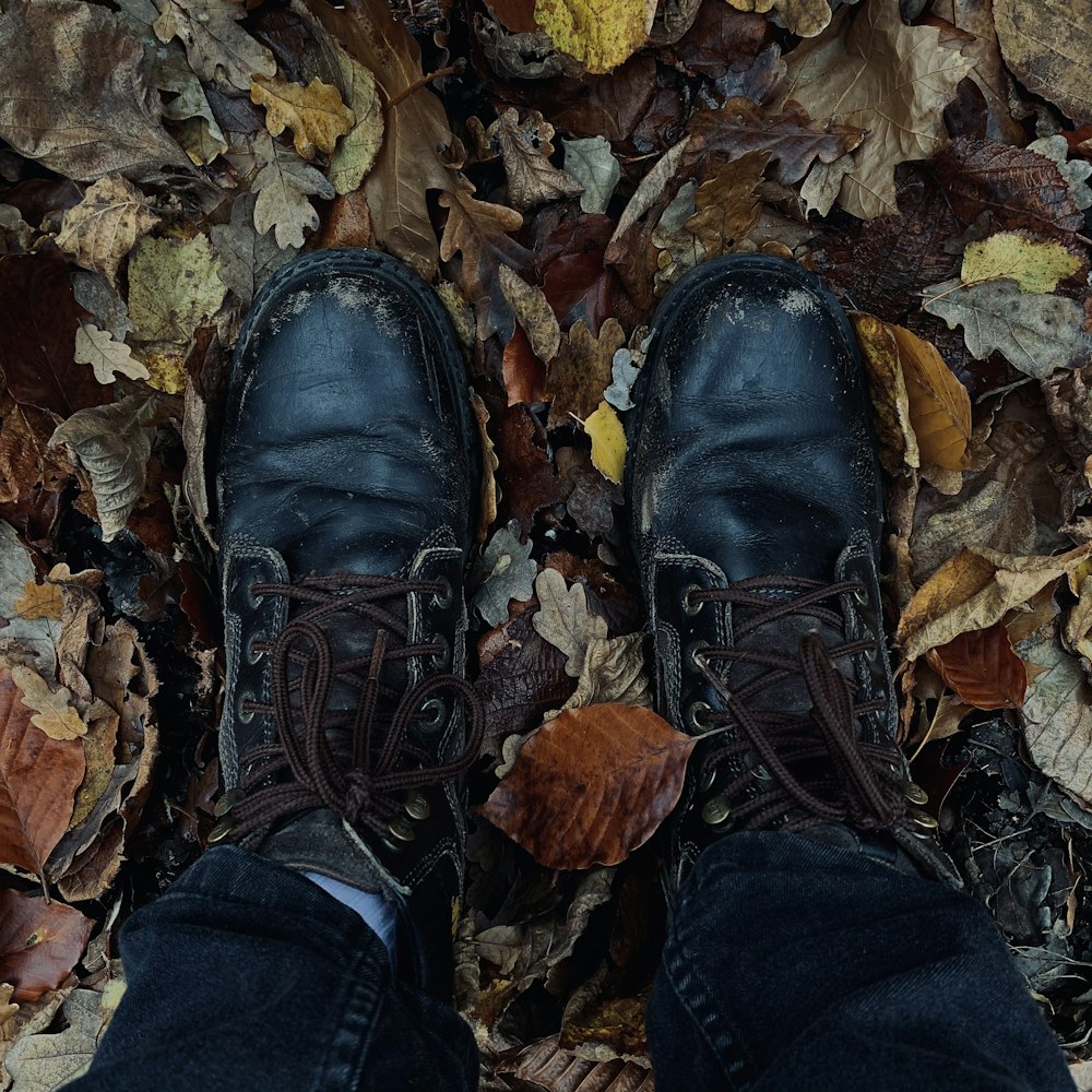
[[[283,595],[310,606],[272,644],[254,642],[257,651],[272,655],[272,703],[246,702],[244,709],[272,715],[277,740],[254,747],[242,758],[239,787],[246,796],[232,809],[228,840],[238,841],[266,823],[320,807],[383,838],[407,791],[456,778],[474,763],[485,717],[465,679],[434,675],[401,692],[381,680],[384,665],[446,653],[440,643],[405,643],[408,625],[389,604],[405,603],[414,592],[442,595],[450,591],[447,584],[342,574],[293,584],[258,583],[251,591],[254,596]],[[335,663],[323,624],[342,612],[375,627],[376,637],[369,654]],[[327,709],[335,681],[359,691],[355,713]],[[441,691],[462,699],[467,732],[461,753],[436,764],[435,757],[413,741],[410,729],[415,721],[428,720],[423,707]]]

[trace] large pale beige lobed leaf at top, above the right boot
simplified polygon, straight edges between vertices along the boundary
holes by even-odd
[[[946,48],[938,27],[906,26],[898,4],[866,3],[852,17],[843,10],[786,60],[780,102],[796,99],[812,117],[867,130],[839,204],[863,219],[897,213],[894,168],[928,158],[945,142],[942,111],[971,59]]]

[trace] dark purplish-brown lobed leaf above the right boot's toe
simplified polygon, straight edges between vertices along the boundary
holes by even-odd
[[[809,43],[804,43],[793,56],[807,48]],[[812,120],[807,109],[791,98],[783,100],[780,110],[747,98],[729,98],[719,110],[696,110],[687,132],[691,140],[685,163],[691,174],[707,178],[722,163],[747,152],[769,152],[772,177],[784,186],[798,182],[816,159],[840,159],[864,135],[853,126]]]

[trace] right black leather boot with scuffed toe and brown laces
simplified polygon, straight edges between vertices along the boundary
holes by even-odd
[[[710,734],[667,824],[668,888],[714,839],[769,829],[958,882],[893,741],[879,465],[834,298],[780,259],[700,266],[657,310],[633,400],[657,709]]]

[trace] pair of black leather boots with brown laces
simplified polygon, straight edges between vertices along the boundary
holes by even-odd
[[[373,251],[317,252],[247,320],[218,473],[226,792],[210,842],[382,895],[400,975],[437,996],[484,728],[464,675],[467,393],[424,283]],[[633,401],[656,710],[709,733],[666,826],[668,889],[713,840],[763,829],[958,882],[893,741],[876,444],[832,296],[776,259],[700,266],[656,313]]]

